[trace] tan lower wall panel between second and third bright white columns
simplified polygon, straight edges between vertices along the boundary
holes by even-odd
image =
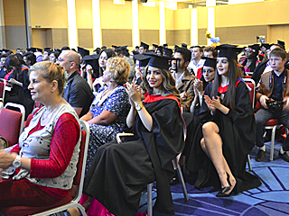
[[[102,29],[102,45],[107,47],[111,47],[111,45],[132,47],[132,30]]]

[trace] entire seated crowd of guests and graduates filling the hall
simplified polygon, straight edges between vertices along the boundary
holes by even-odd
[[[92,55],[69,47],[0,54],[5,103],[23,104],[25,117],[33,116],[19,142],[0,149],[0,212],[7,215],[14,206],[45,210],[70,202],[79,120],[90,129],[80,203],[88,215],[117,216],[135,215],[144,185],[154,181],[154,211],[173,214],[172,159],[181,153],[183,166],[196,175],[195,188],[214,186],[217,197],[225,197],[258,187],[258,177],[246,171],[247,155],[256,145],[256,161],[264,160],[266,121],[289,127],[289,72],[280,40],[246,48],[182,43],[149,49],[141,42],[131,52],[113,45]],[[256,101],[245,76],[256,82]],[[133,135],[119,143],[117,133],[124,131]],[[288,152],[285,138],[279,157],[289,162]]]

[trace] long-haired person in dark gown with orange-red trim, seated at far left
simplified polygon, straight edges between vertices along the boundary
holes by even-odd
[[[13,70],[5,75],[10,90],[5,91],[5,103],[19,103],[25,107],[25,119],[33,111],[33,99],[27,88],[29,85],[28,67],[24,65],[23,59],[16,55],[6,59],[6,66]]]

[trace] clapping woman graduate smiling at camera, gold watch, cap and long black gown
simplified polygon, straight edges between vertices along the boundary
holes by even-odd
[[[95,197],[115,215],[135,215],[144,186],[155,180],[154,211],[174,213],[169,181],[174,175],[172,159],[184,146],[184,131],[178,90],[168,68],[167,58],[152,56],[144,70],[143,86],[149,93],[144,103],[136,85],[126,85],[131,103],[126,124],[135,139],[99,147],[85,178],[88,202]],[[99,202],[97,209],[104,212]]]

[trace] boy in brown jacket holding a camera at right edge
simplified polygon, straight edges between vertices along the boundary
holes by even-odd
[[[284,68],[287,54],[284,49],[275,48],[270,52],[269,63],[272,71],[261,75],[260,83],[256,93],[256,101],[259,101],[262,108],[256,112],[256,146],[259,148],[256,154],[256,161],[263,161],[266,155],[264,145],[264,124],[270,119],[277,119],[289,127],[289,72]],[[270,104],[275,103],[275,105]],[[282,103],[284,103],[282,105]],[[284,139],[280,148],[279,157],[289,162],[289,138]]]

